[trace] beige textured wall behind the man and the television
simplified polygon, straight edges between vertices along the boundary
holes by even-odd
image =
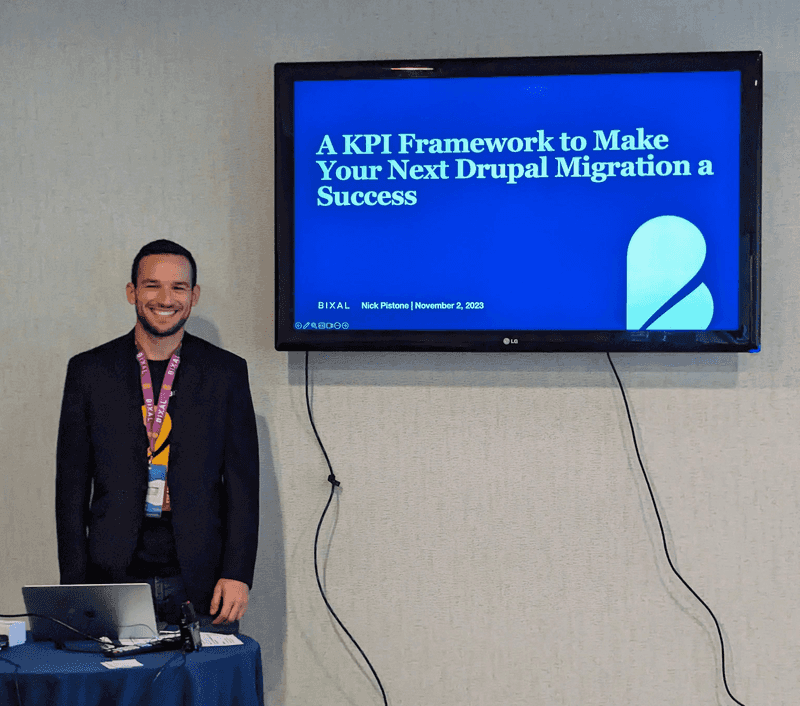
[[[761,49],[763,351],[615,355],[679,570],[734,695],[800,702],[800,14],[794,2],[0,2],[0,607],[58,580],[66,363],[133,324],[130,262],[189,247],[190,330],[244,355],[264,516],[244,630],[268,703],[380,703],[327,616],[327,469],[273,350],[276,61]],[[312,354],[342,482],[329,597],[394,706],[727,704],[601,354]]]

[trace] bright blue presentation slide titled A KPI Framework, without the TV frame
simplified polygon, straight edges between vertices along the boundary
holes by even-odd
[[[740,83],[296,83],[295,326],[738,328]]]

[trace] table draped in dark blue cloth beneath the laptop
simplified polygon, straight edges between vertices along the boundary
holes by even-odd
[[[0,706],[264,706],[261,648],[244,643],[122,657],[141,667],[108,669],[101,653],[27,642],[0,652]],[[30,633],[28,633],[30,640]],[[94,650],[92,642],[68,647]]]

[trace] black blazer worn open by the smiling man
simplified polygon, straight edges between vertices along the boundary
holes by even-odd
[[[258,438],[247,363],[184,333],[170,399],[169,490],[186,592],[204,613],[219,578],[252,587]],[[130,581],[147,492],[133,331],[67,366],[56,450],[61,583]]]

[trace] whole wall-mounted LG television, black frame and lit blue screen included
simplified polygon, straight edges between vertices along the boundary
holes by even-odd
[[[758,51],[275,66],[278,350],[760,346]]]

